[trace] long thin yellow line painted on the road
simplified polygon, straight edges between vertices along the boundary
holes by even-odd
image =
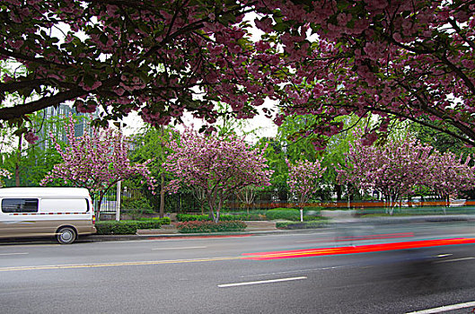
[[[0,267],[0,272],[14,272],[22,270],[45,270],[45,269],[68,269],[68,268],[92,268],[92,267],[112,267],[112,266],[145,266],[161,264],[180,264],[180,263],[198,263],[215,262],[221,260],[241,259],[242,257],[210,257],[194,259],[171,259],[171,260],[152,260],[143,262],[118,262],[118,263],[97,263],[97,264],[71,264],[71,265],[50,265],[50,266],[17,266]]]

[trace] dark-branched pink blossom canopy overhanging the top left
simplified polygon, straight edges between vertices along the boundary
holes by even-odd
[[[136,110],[146,122],[168,125],[186,109],[213,123],[216,101],[231,105],[233,116],[252,117],[273,97],[267,74],[281,63],[267,43],[251,42],[243,17],[254,4],[5,0],[0,60],[28,71],[3,73],[0,100],[9,92],[38,97],[3,103],[0,119],[16,123],[66,100],[79,112],[101,106],[103,121]]]

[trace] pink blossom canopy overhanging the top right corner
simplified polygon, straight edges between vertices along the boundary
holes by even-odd
[[[376,114],[370,142],[391,130],[392,119],[405,119],[475,144],[472,1],[267,3],[282,16],[261,16],[256,26],[275,31],[268,40],[277,40],[286,61],[295,61],[277,123],[288,114],[311,114],[318,121],[308,134],[335,135],[342,129],[336,117]]]

